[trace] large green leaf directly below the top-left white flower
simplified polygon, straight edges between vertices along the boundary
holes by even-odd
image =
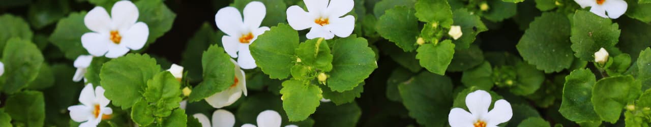
[[[160,66],[149,55],[129,53],[104,63],[100,83],[111,104],[127,109],[143,98],[147,81],[160,72]]]

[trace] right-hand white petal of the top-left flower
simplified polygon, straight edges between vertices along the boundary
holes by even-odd
[[[120,35],[122,36],[120,45],[124,45],[132,50],[138,50],[143,48],[147,42],[149,27],[143,22],[138,22],[129,30],[125,31],[124,34]]]

